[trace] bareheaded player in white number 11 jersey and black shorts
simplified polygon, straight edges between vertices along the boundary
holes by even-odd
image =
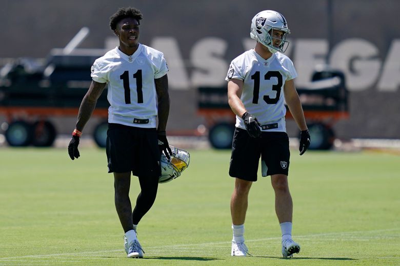
[[[128,258],[143,257],[136,226],[155,201],[161,152],[167,158],[172,154],[166,137],[168,67],[163,53],[138,42],[142,17],[135,8],[121,8],[110,17],[110,28],[118,36],[119,46],[93,63],[93,80],[79,107],[68,145],[70,158],[78,158],[79,137],[108,85],[106,153],[108,170],[114,174],[115,208],[125,232]],[[138,176],[141,186],[133,212],[129,198],[131,173]]]

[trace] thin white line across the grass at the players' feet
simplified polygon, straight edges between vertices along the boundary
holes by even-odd
[[[390,231],[400,231],[399,228],[391,228],[391,229],[381,229],[381,230],[368,230],[368,231],[351,231],[351,232],[332,232],[332,233],[321,233],[321,234],[309,234],[309,235],[296,235],[295,238],[313,238],[318,236],[346,236],[346,235],[354,235],[359,233],[379,233],[379,232],[390,232]],[[259,242],[266,240],[276,240],[281,239],[281,237],[268,237],[268,238],[259,238],[259,239],[249,239],[246,242]],[[357,238],[353,238],[356,240]],[[360,238],[363,240],[363,238]],[[173,249],[173,248],[181,248],[184,247],[187,249],[190,246],[204,247],[204,246],[215,246],[222,244],[230,244],[231,241],[222,241],[222,242],[208,242],[208,243],[192,243],[192,244],[179,244],[179,245],[168,245],[168,246],[154,246],[148,247],[146,249]],[[112,253],[112,252],[121,252],[123,249],[117,250],[103,250],[103,251],[87,251],[87,252],[72,252],[72,253],[56,253],[56,254],[43,254],[43,255],[26,255],[26,256],[14,256],[14,257],[4,257],[0,258],[1,261],[12,261],[13,259],[22,259],[22,258],[46,258],[46,257],[61,257],[61,256],[82,256],[89,254],[97,254],[97,253]],[[64,257],[65,258],[65,257]]]

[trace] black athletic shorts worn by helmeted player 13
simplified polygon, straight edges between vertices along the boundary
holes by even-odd
[[[247,181],[257,181],[261,156],[263,176],[289,173],[289,138],[286,132],[261,132],[261,138],[251,138],[245,129],[237,128],[233,135],[229,175]]]

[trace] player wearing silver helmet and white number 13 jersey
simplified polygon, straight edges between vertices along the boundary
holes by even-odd
[[[228,101],[236,114],[229,175],[235,178],[231,197],[232,256],[246,256],[244,223],[248,194],[257,181],[261,156],[262,175],[271,175],[275,191],[275,211],[282,230],[282,255],[300,251],[292,240],[293,204],[288,186],[289,138],[286,134],[285,101],[301,130],[300,155],[310,145],[310,135],[299,100],[292,61],[283,54],[290,33],[285,17],[265,10],[252,19],[250,36],[255,48],[239,55],[230,64]]]

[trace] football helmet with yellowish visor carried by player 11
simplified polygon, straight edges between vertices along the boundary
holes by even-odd
[[[171,145],[169,147],[172,150],[170,160],[167,159],[164,153],[161,153],[161,176],[158,179],[158,183],[167,183],[176,179],[189,166],[189,152]]]

